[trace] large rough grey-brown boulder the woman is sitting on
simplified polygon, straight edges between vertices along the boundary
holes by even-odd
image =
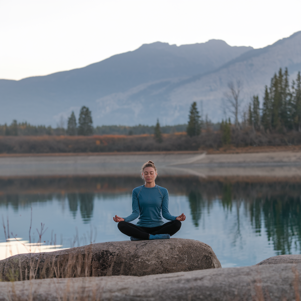
[[[186,272],[221,268],[212,248],[198,240],[114,241],[0,261],[0,281]]]

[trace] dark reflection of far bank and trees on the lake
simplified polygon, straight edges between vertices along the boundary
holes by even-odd
[[[245,228],[248,223],[255,236],[266,236],[268,243],[273,245],[275,255],[301,253],[301,180],[203,179],[187,176],[160,177],[157,183],[166,187],[174,198],[185,196],[196,231],[206,230],[206,216],[210,216],[215,210],[214,214],[222,215],[226,223],[231,223],[229,231],[232,246],[242,246],[243,240],[248,240],[250,234]],[[83,224],[88,224],[96,218],[94,210],[98,200],[105,198],[116,201],[121,195],[126,195],[129,204],[125,207],[130,210],[132,189],[139,185],[139,177],[0,179],[0,209],[5,215],[5,210],[12,208],[17,215],[19,210],[30,208],[33,204],[59,201],[62,204],[61,210],[66,208],[74,221],[80,218]],[[119,207],[122,202],[120,201]],[[110,216],[111,212],[105,210],[115,210],[114,204],[106,207],[110,209],[102,209],[103,212],[96,214]],[[222,222],[219,219],[216,218],[216,223]],[[110,228],[106,231],[109,237]],[[189,237],[189,233],[187,236]]]

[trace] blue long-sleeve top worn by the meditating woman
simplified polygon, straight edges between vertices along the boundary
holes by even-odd
[[[162,216],[174,221],[176,216],[172,216],[168,211],[168,191],[166,188],[156,185],[155,187],[136,187],[132,192],[133,212],[124,218],[126,222],[131,222],[139,216],[136,224],[140,227],[157,227],[164,224]],[[162,216],[161,216],[162,210]]]

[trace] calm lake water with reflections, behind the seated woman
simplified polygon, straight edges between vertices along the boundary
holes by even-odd
[[[162,177],[157,184],[169,190],[170,213],[186,214],[174,237],[209,244],[223,267],[301,253],[301,183]],[[113,216],[132,212],[131,191],[139,185],[138,177],[0,179],[0,211],[9,231],[23,239],[32,208],[32,240],[38,240],[41,222],[48,227],[46,244],[128,240]]]

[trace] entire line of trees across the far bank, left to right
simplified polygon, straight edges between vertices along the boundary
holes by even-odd
[[[243,112],[241,122],[238,120],[239,106],[241,104],[241,83],[237,81],[229,83],[229,93],[225,93],[227,109],[234,117],[226,118],[221,123],[213,124],[206,115],[197,109],[197,103],[191,104],[188,124],[175,126],[160,126],[159,119],[155,126],[97,126],[93,127],[92,114],[88,107],[83,106],[79,113],[78,122],[74,112],[71,113],[67,122],[67,129],[58,126],[32,126],[29,123],[17,123],[16,120],[10,126],[0,125],[0,135],[137,135],[154,134],[154,139],[161,143],[164,133],[187,132],[190,137],[198,136],[202,131],[212,132],[220,130],[222,133],[222,144],[231,143],[232,131],[249,130],[264,131],[265,133],[285,133],[287,131],[301,132],[301,76],[297,75],[296,81],[289,82],[287,68],[283,72],[280,68],[278,73],[271,79],[270,87],[265,86],[262,107],[260,107],[259,96],[254,95],[249,104],[248,111]]]

